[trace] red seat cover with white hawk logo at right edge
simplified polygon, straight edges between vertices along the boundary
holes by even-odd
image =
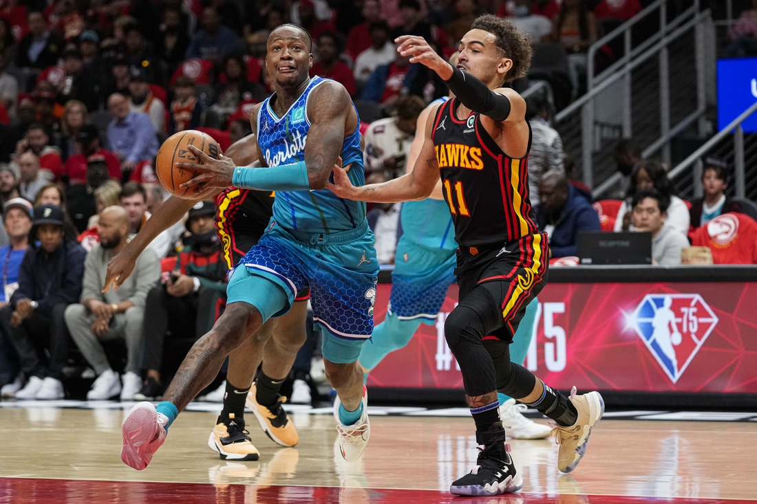
[[[690,233],[695,247],[709,247],[714,264],[757,264],[757,222],[744,213],[724,213]]]

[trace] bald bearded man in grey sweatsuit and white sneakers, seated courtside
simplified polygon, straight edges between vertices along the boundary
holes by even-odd
[[[132,400],[142,387],[139,352],[145,299],[160,278],[160,262],[149,247],[136,261],[134,272],[117,290],[103,293],[107,263],[129,239],[129,216],[121,207],[107,207],[100,215],[100,243],[86,256],[81,303],[66,309],[65,319],[71,338],[95,369],[98,378],[87,393],[88,400],[107,400],[120,393]],[[100,341],[123,338],[128,350],[123,387],[111,369]]]

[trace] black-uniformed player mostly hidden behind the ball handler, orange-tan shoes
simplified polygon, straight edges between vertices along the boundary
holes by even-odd
[[[252,134],[241,138],[229,147],[226,156],[231,157],[238,166],[253,164],[260,157],[257,138]],[[216,226],[222,241],[223,257],[231,268],[265,232],[273,213],[274,195],[270,191],[232,187],[204,195],[203,198],[213,196],[217,204]],[[172,196],[160,205],[136,237],[108,264],[104,289],[110,288],[111,283],[118,288],[131,274],[142,250],[161,231],[178,222],[195,203]],[[298,443],[294,422],[282,408],[278,392],[307,338],[305,319],[308,297],[307,291],[299,293],[296,301],[301,302],[294,303],[285,316],[270,319],[229,355],[223,410],[208,440],[208,445],[220,453],[222,459],[257,460],[260,456],[244,432],[245,400],[255,413],[260,427],[272,440],[283,446]],[[261,360],[265,362],[262,372],[248,394]]]

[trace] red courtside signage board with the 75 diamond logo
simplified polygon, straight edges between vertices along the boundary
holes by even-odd
[[[390,289],[378,285],[377,323]],[[552,283],[525,366],[562,389],[757,393],[755,297],[757,283]],[[444,340],[456,298],[453,285],[436,325],[421,325],[369,385],[462,388]]]

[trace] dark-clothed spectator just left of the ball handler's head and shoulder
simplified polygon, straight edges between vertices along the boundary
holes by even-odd
[[[223,62],[223,76],[226,82],[219,82],[210,110],[217,114],[221,124],[226,124],[229,116],[235,113],[242,101],[263,101],[266,90],[257,82],[247,79],[245,60],[236,54],[226,57]],[[197,126],[195,126],[197,127]]]

